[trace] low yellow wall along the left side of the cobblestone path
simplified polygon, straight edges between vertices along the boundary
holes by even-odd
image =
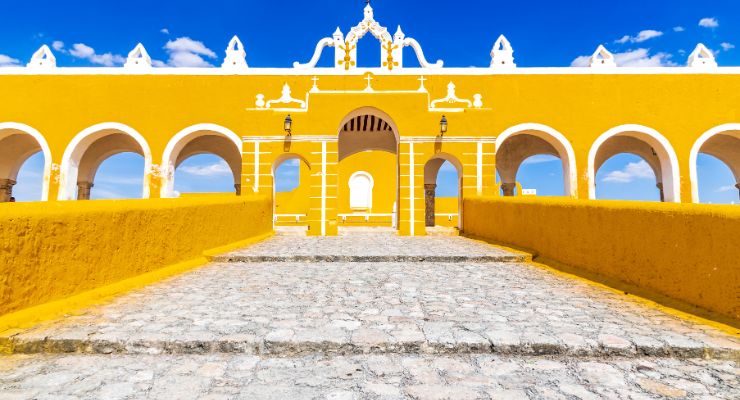
[[[0,204],[0,316],[272,230],[260,196]]]

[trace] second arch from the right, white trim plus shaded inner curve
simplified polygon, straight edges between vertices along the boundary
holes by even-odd
[[[619,153],[632,153],[642,157],[653,168],[658,179],[657,183],[662,183],[664,200],[673,203],[680,202],[681,185],[678,173],[678,157],[673,150],[673,146],[668,142],[668,139],[655,129],[637,124],[626,124],[611,128],[601,134],[591,145],[591,150],[588,152],[588,198],[596,198],[596,171],[601,166],[596,165],[597,154],[608,140],[618,137],[627,138],[623,141],[623,145],[634,145],[640,142],[649,146],[658,158],[658,162],[656,163],[650,157],[645,157],[635,151],[619,151],[611,154],[611,156]],[[601,158],[606,160],[611,156],[607,154]]]

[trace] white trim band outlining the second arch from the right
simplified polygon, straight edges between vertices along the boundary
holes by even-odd
[[[613,136],[624,133],[638,133],[641,135],[630,136],[642,140],[647,139],[645,142],[653,147],[655,152],[658,154],[658,159],[660,160],[660,168],[663,174],[662,182],[665,201],[670,203],[680,203],[681,180],[678,173],[678,157],[676,156],[676,151],[673,150],[671,143],[661,135],[660,132],[653,128],[637,124],[625,124],[611,128],[601,134],[594,144],[591,145],[591,150],[588,152],[588,198],[592,200],[596,198],[596,153],[604,142]]]

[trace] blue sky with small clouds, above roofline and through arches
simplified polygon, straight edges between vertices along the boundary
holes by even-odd
[[[236,34],[250,66],[290,67],[293,61],[307,61],[317,40],[337,26],[346,32],[361,18],[364,6],[361,0],[5,3],[0,66],[25,64],[42,44],[54,48],[59,66],[118,66],[142,42],[158,65],[207,67],[220,65],[228,40]],[[740,1],[734,0],[375,0],[372,5],[377,20],[392,30],[400,24],[422,44],[428,59],[443,59],[451,67],[487,66],[501,33],[512,42],[522,67],[578,66],[599,44],[614,52],[621,65],[680,66],[699,42],[715,51],[720,65],[740,66],[735,47],[740,46]],[[370,40],[361,45],[378,46]],[[360,54],[360,65],[378,62],[374,50]],[[223,167],[215,157],[196,156],[178,169],[176,189],[230,191],[233,183]],[[109,159],[96,177],[93,197],[136,197],[141,189],[135,178],[142,169],[143,160],[136,155]],[[21,176],[34,181],[39,171],[39,157],[34,157]],[[597,194],[657,198],[654,178],[647,172],[633,156],[614,157],[597,174]],[[447,188],[456,180],[454,170],[445,169],[442,176],[447,178],[440,190],[454,193]],[[737,191],[727,190],[734,184],[732,176],[716,159],[700,157],[699,178],[703,201],[737,201]],[[528,160],[518,180],[540,195],[562,194],[558,161]],[[32,195],[40,193],[36,186],[19,184],[19,200],[37,197]]]

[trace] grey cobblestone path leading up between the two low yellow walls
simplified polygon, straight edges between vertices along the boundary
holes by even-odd
[[[737,336],[526,259],[276,236],[0,338],[0,398],[740,398]]]

